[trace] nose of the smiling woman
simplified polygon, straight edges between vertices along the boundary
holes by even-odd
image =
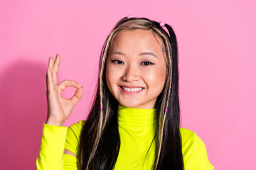
[[[124,72],[122,77],[124,81],[137,81],[139,80],[139,69],[135,65],[130,65]]]

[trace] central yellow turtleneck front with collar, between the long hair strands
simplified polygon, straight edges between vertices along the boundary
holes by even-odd
[[[114,170],[149,169],[149,166],[154,163],[156,142],[154,140],[152,143],[152,140],[156,132],[155,112],[156,108],[142,109],[118,106],[118,130],[121,145]],[[146,155],[148,150],[149,153]]]

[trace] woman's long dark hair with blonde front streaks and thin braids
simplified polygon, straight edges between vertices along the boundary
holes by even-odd
[[[114,35],[122,30],[150,30],[162,41],[166,60],[166,81],[156,99],[156,151],[151,169],[183,169],[180,108],[178,99],[178,48],[174,30],[148,18],[122,18],[107,36],[100,55],[100,72],[90,113],[80,135],[78,168],[114,169],[120,147],[117,123],[118,101],[112,96],[105,78],[106,61]],[[103,108],[101,106],[104,106]],[[167,108],[167,111],[166,111]],[[166,112],[165,112],[166,111]]]

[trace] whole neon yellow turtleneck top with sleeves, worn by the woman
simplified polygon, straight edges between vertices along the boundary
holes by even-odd
[[[127,108],[118,106],[120,149],[114,170],[150,169],[154,163],[156,109]],[[68,149],[78,155],[80,132],[85,120],[74,123],[69,128],[43,124],[43,134],[39,155],[36,159],[38,170],[77,170],[78,159],[63,154]],[[180,128],[184,169],[214,169],[208,160],[206,146],[191,130]],[[151,145],[150,149],[149,146]],[[149,153],[146,156],[146,152]],[[145,160],[145,162],[144,162]],[[144,162],[144,166],[143,165]]]

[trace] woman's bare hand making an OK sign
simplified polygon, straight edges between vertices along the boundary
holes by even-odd
[[[60,55],[57,54],[55,60],[53,60],[53,57],[49,57],[46,74],[46,96],[48,105],[46,124],[62,126],[65,120],[70,116],[75,105],[82,98],[82,86],[73,80],[64,80],[60,84],[57,84]],[[60,96],[67,86],[77,88],[72,98],[63,98]]]

